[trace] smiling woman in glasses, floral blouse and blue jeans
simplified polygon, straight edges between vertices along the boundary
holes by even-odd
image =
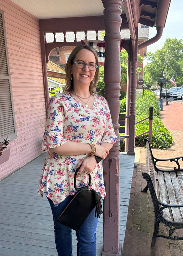
[[[59,256],[72,256],[71,229],[57,222],[58,216],[76,193],[73,177],[80,167],[78,186],[90,188],[105,197],[102,161],[117,137],[106,100],[95,94],[99,76],[98,57],[90,46],[78,45],[66,64],[64,93],[52,97],[48,106],[42,150],[48,151],[38,193],[46,193],[50,203],[55,243]],[[96,255],[94,210],[76,232],[78,256]]]

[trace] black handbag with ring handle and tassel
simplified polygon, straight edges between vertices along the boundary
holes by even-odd
[[[77,190],[77,193],[73,195],[72,200],[66,206],[64,211],[58,217],[58,222],[64,224],[67,227],[72,228],[73,230],[78,231],[82,223],[91,213],[93,208],[95,208],[95,217],[100,218],[102,215],[102,196],[98,194],[94,189],[89,189],[91,183],[91,175],[89,174],[89,183],[88,186],[76,187],[76,176],[80,167],[76,169],[74,176],[74,188]]]

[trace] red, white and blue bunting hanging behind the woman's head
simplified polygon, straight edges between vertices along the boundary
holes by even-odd
[[[124,44],[125,40],[121,41],[121,45],[120,45],[120,51],[123,48],[123,44]],[[95,51],[96,54],[98,56],[98,60],[99,60],[99,65],[104,65],[104,61],[105,61],[105,42],[104,41],[97,41],[97,40],[81,40],[83,45],[89,45],[92,46]]]

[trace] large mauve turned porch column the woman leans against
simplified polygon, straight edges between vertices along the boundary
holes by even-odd
[[[120,81],[121,81],[121,63],[120,63],[120,27],[121,20],[121,0],[102,0],[104,5],[104,25],[105,25],[105,65],[104,82],[105,98],[107,99],[113,126],[117,137],[119,138],[118,117],[120,111]],[[103,256],[120,256],[122,246],[119,244],[120,231],[120,154],[119,139],[112,147],[108,157],[103,162],[104,182],[106,188],[106,197],[104,199],[104,247]]]

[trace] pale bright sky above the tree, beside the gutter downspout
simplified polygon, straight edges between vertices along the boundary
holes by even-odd
[[[165,27],[161,38],[147,47],[147,52],[156,52],[164,45],[167,38],[183,39],[183,0],[171,0]],[[149,27],[149,39],[157,33],[155,27]],[[144,59],[144,66],[147,60]]]

